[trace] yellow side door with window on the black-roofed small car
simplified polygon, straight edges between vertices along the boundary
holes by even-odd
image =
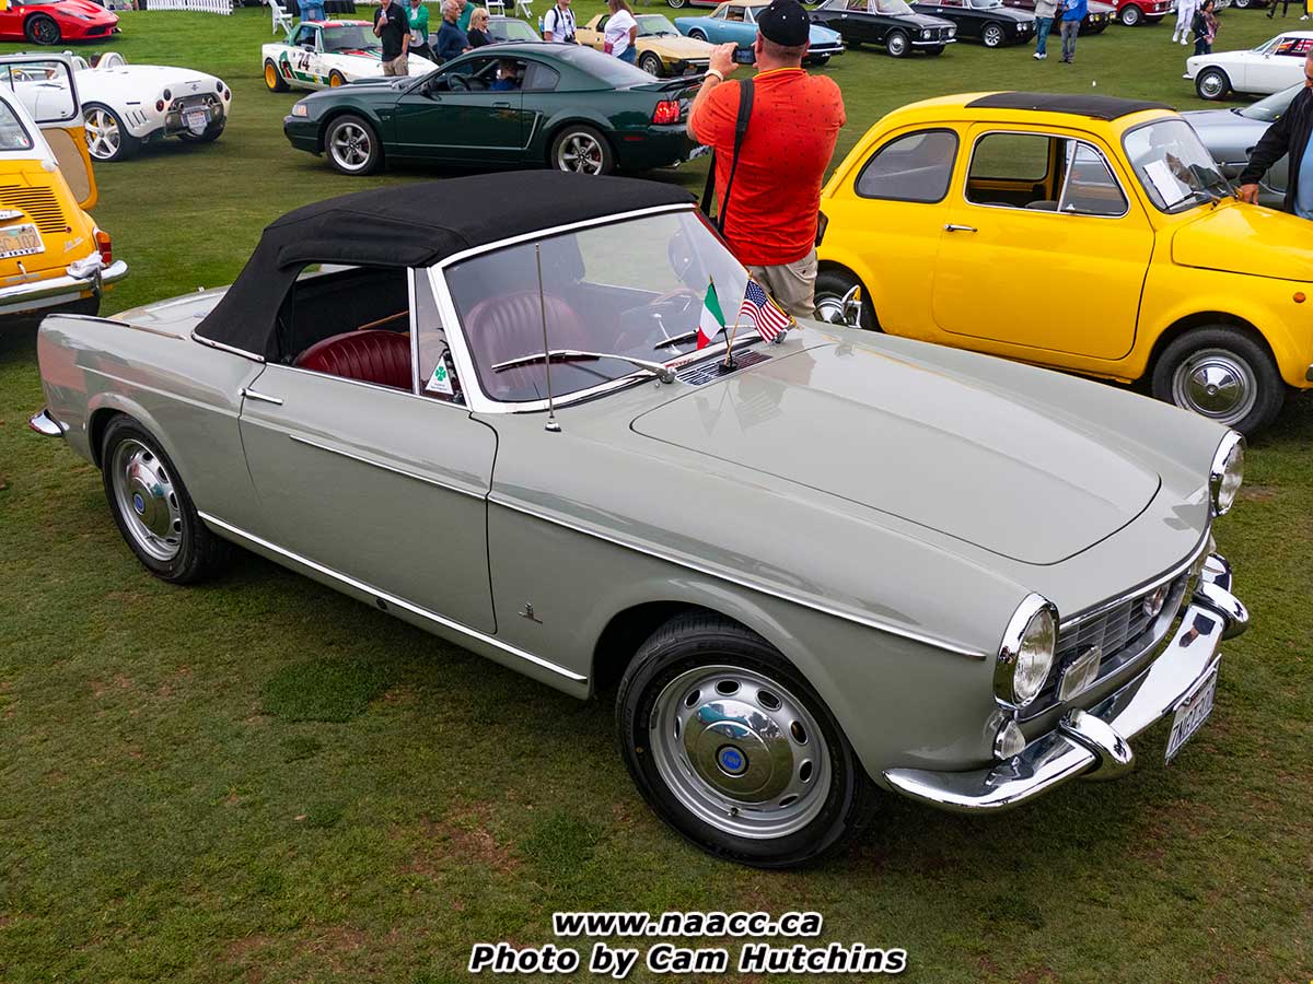
[[[1111,155],[1057,129],[969,136],[935,261],[943,340],[1086,369],[1127,356],[1154,232]]]

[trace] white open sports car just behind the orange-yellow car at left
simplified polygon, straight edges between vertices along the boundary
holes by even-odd
[[[221,79],[190,68],[127,64],[106,51],[95,64],[66,52],[75,70],[87,122],[87,148],[97,161],[126,160],[146,140],[177,136],[190,143],[217,140],[228,122],[232,89]],[[33,55],[35,58],[35,55]],[[66,100],[64,84],[34,62],[32,71],[12,66],[13,88],[26,109]]]

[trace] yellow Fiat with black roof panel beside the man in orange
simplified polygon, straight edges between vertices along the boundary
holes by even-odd
[[[826,185],[831,321],[1088,375],[1245,433],[1313,387],[1313,226],[1245,205],[1169,108],[916,102]]]

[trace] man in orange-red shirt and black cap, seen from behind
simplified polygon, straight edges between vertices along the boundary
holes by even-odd
[[[756,18],[752,113],[734,181],[739,85],[734,45],[712,52],[710,68],[688,114],[688,133],[716,150],[721,232],[739,262],[796,318],[815,315],[817,214],[839,127],[847,122],[834,80],[802,71],[810,20],[798,0],[773,0]]]

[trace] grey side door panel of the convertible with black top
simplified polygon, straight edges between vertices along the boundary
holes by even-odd
[[[269,365],[242,441],[278,546],[484,632],[496,436],[460,407]],[[277,400],[277,403],[274,403]]]

